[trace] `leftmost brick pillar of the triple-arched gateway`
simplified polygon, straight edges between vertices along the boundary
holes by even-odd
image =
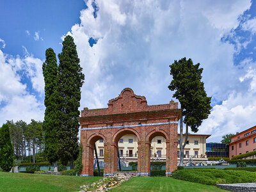
[[[93,147],[90,145],[84,147],[81,176],[93,176]]]

